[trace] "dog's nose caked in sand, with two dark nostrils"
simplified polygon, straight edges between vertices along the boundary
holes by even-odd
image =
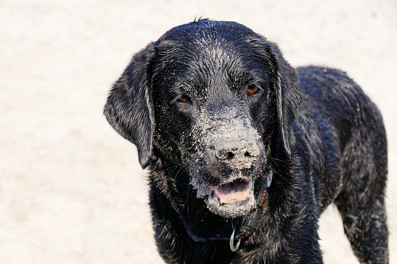
[[[229,160],[232,163],[252,162],[252,159],[258,154],[258,145],[251,138],[228,138],[222,140],[215,149],[218,159]]]

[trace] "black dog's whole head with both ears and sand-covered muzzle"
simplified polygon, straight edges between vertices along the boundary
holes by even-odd
[[[189,173],[212,212],[236,217],[255,206],[271,140],[290,155],[300,101],[296,72],[276,44],[241,24],[204,19],[135,54],[104,114],[137,146],[143,168],[158,149]]]

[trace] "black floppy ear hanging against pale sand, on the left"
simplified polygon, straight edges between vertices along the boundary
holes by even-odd
[[[104,115],[114,130],[137,146],[143,169],[152,158],[154,113],[150,61],[153,57],[153,43],[132,57],[110,90],[104,107]]]

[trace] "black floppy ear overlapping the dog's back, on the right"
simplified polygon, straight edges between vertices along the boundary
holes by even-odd
[[[270,55],[270,68],[273,70],[272,78],[276,91],[279,132],[285,152],[291,156],[290,129],[301,108],[301,85],[297,71],[283,58],[277,44],[266,41],[266,46]]]

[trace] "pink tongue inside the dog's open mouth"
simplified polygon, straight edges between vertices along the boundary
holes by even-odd
[[[216,188],[217,196],[221,204],[241,202],[248,198],[251,188],[248,182],[241,184],[227,184],[225,187]]]

